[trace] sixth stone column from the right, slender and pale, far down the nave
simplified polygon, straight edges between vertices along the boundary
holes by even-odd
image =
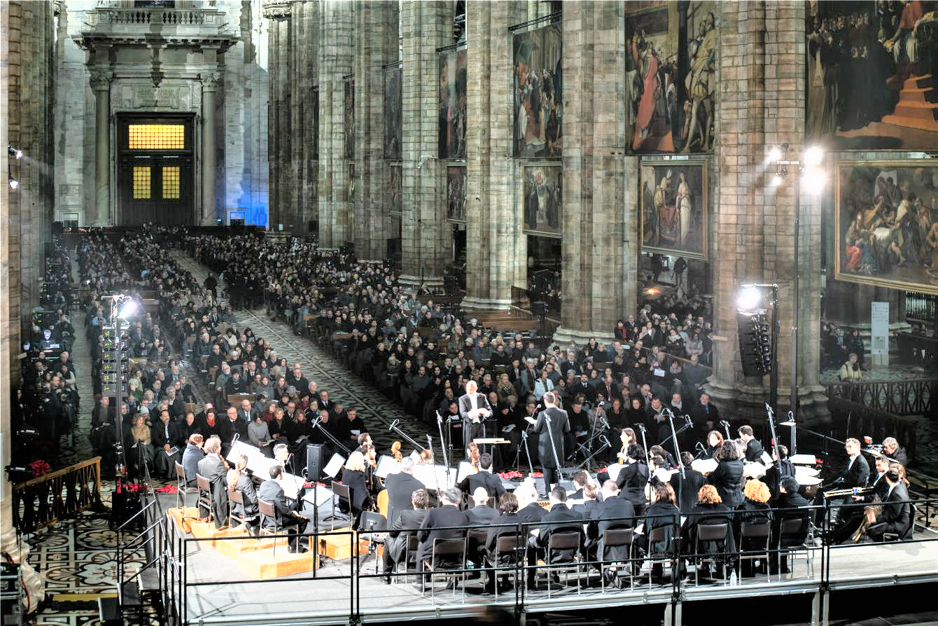
[[[340,248],[352,237],[345,169],[344,88],[352,73],[352,3],[319,5],[319,245]],[[362,35],[363,37],[365,34]]]

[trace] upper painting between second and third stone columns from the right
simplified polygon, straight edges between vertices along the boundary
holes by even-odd
[[[514,37],[514,155],[560,158],[563,118],[559,24]]]

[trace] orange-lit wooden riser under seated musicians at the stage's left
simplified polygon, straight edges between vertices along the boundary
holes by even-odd
[[[321,563],[317,553],[332,560],[345,560],[355,556],[355,543],[358,542],[358,555],[368,554],[369,543],[359,539],[356,534],[348,534],[347,528],[337,528],[346,533],[320,535],[318,547],[310,535],[306,538],[309,552],[291,554],[288,551],[286,537],[250,537],[243,527],[216,528],[214,522],[201,522],[196,518],[194,507],[177,507],[167,512],[170,522],[182,533],[192,538],[204,540],[189,544],[189,556],[201,549],[211,549],[220,555],[234,559],[235,565],[242,572],[256,580],[271,580],[295,573],[307,573],[316,570]],[[308,529],[309,530],[309,529]],[[324,528],[328,530],[328,528]],[[195,547],[197,546],[197,547]]]

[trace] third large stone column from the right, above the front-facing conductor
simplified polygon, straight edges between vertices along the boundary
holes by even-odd
[[[527,279],[521,168],[511,156],[512,35],[523,3],[469,0],[466,59],[466,297],[468,309],[507,309]]]

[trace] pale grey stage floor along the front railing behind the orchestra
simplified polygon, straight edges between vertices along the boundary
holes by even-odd
[[[930,533],[926,536],[933,538]],[[893,544],[860,544],[836,547],[829,550],[829,575],[826,579],[830,591],[840,589],[887,588],[901,585],[938,583],[938,542],[924,541]],[[422,620],[438,618],[476,618],[499,609],[513,612],[516,594],[513,590],[494,595],[482,595],[479,579],[466,583],[465,601],[457,588],[444,588],[438,582],[435,598],[431,599],[428,589],[425,597],[403,576],[388,586],[380,578],[359,578],[354,588],[350,577],[351,561],[325,560],[317,576],[337,576],[331,580],[295,580],[310,577],[313,573],[296,574],[277,580],[259,583],[230,583],[241,570],[234,559],[220,554],[207,544],[189,542],[187,573],[186,621],[189,624],[340,624],[348,623],[351,608],[357,600],[357,610],[366,622]],[[370,557],[362,573],[374,573],[374,557]],[[726,600],[790,594],[815,594],[821,583],[821,548],[814,551],[813,574],[809,575],[806,564],[798,560],[794,574],[783,574],[779,580],[773,576],[766,582],[765,575],[743,579],[738,585],[722,582],[693,585],[693,576],[682,584],[681,593],[685,603],[703,600]],[[563,574],[561,574],[563,580]],[[598,584],[598,577],[592,580]],[[546,590],[528,592],[524,598],[524,610],[528,613],[555,611],[593,610],[603,607],[628,605],[665,605],[673,601],[673,588],[655,585],[649,588],[647,574],[634,589],[582,588],[577,592],[575,585],[552,589],[548,598]],[[193,583],[208,583],[191,587]],[[788,602],[778,599],[779,602]],[[803,616],[805,622],[810,616]]]

